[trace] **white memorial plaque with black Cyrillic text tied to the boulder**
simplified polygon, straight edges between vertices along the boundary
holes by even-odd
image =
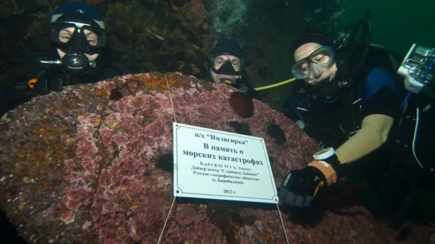
[[[174,195],[278,203],[264,140],[174,123]]]

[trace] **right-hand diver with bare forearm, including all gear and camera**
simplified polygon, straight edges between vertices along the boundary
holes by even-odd
[[[435,146],[428,142],[435,136],[435,108],[431,99],[406,94],[390,53],[370,45],[367,19],[368,14],[348,32],[346,43],[319,32],[303,32],[292,44],[291,72],[298,81],[282,110],[323,149],[306,167],[284,177],[278,195],[290,207],[308,209],[318,191],[348,172],[358,172],[385,200],[396,204],[391,210],[398,227],[415,189],[435,190]],[[363,32],[356,40],[359,27]],[[431,69],[435,49],[422,49],[413,53],[415,59],[425,54],[426,64],[410,62],[400,75]],[[415,73],[421,77],[424,72]],[[422,78],[427,84],[429,75]]]

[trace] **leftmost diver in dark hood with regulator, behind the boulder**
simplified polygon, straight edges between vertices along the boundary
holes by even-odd
[[[52,13],[50,23],[49,60],[33,62],[48,67],[25,82],[13,82],[0,91],[0,116],[35,96],[61,91],[63,86],[130,73],[119,55],[108,47],[103,18],[94,7],[78,1],[66,2]]]

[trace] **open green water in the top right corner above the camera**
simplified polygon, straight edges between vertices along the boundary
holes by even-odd
[[[370,10],[372,42],[403,56],[414,43],[435,47],[435,1],[348,0],[343,7],[349,9],[339,22],[340,29]]]

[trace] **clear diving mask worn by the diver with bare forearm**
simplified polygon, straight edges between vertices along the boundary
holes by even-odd
[[[310,75],[322,75],[324,69],[334,64],[334,50],[331,46],[322,46],[311,53],[308,58],[303,58],[291,66],[291,72],[296,79],[308,79]]]

